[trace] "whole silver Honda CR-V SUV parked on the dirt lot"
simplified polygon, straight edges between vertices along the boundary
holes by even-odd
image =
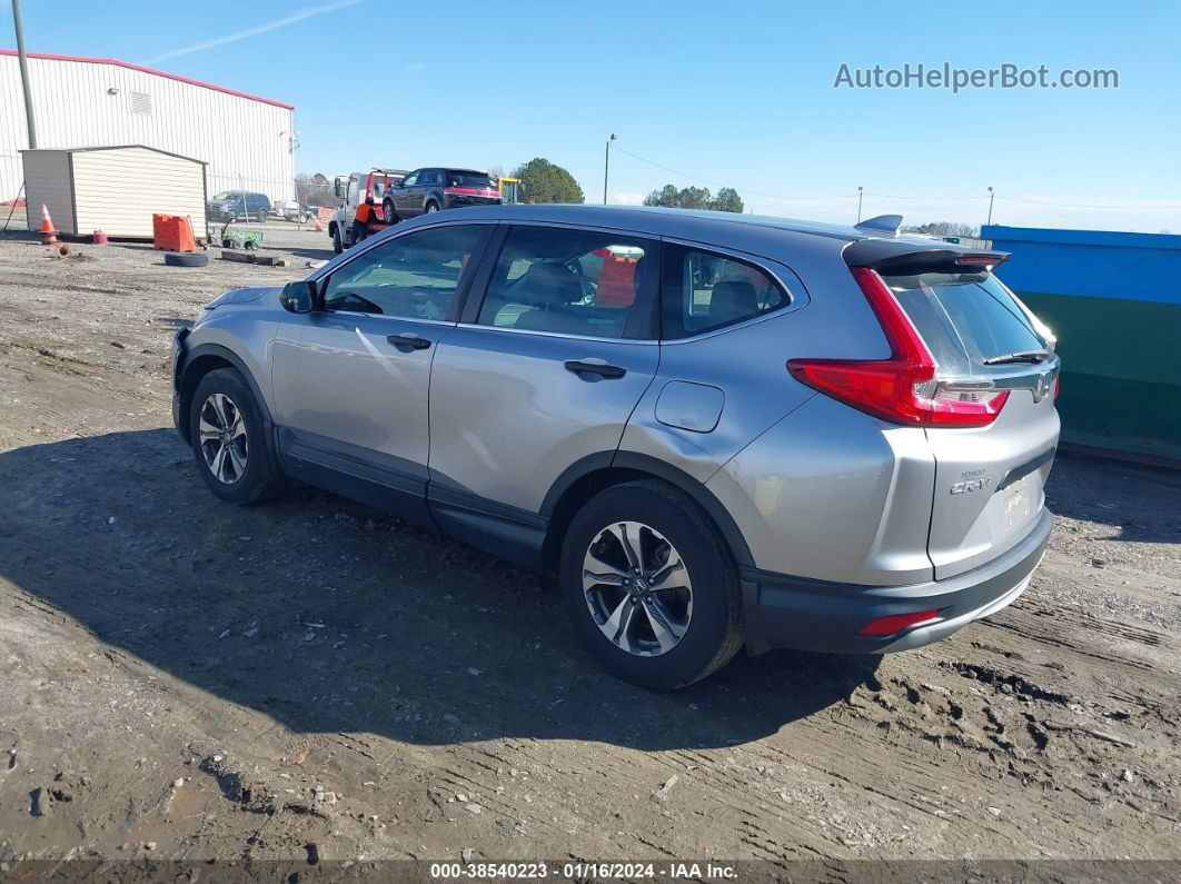
[[[1004,255],[900,221],[424,216],[208,305],[174,417],[223,500],[296,479],[556,575],[642,686],[915,648],[1029,583],[1059,361]]]

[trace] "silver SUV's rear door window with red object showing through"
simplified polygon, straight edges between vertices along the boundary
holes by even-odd
[[[516,227],[477,322],[497,328],[622,338],[652,244],[619,234]]]

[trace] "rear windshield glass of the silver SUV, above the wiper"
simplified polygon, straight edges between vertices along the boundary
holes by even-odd
[[[1048,349],[1029,314],[1000,281],[981,273],[885,276],[940,372],[980,374],[985,360]],[[1012,365],[996,366],[1012,369]]]

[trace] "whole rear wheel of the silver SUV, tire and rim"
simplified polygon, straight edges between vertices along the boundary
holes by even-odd
[[[567,530],[560,582],[590,653],[634,685],[692,685],[742,647],[737,568],[700,508],[661,483],[592,498]]]

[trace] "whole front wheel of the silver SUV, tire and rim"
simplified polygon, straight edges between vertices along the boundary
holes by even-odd
[[[197,384],[189,440],[201,478],[222,500],[255,503],[282,486],[262,410],[233,368],[209,372]]]

